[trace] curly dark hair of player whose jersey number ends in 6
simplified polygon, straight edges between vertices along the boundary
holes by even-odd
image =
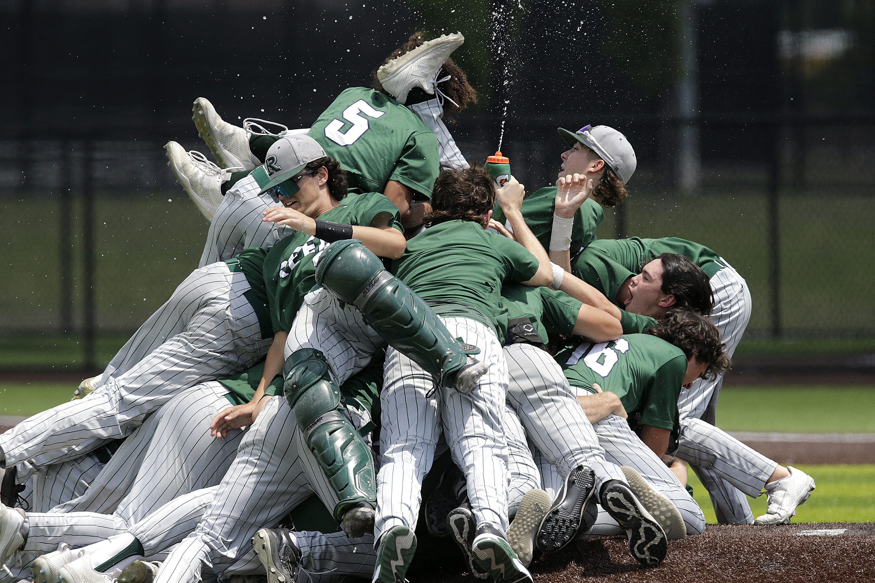
[[[699,363],[708,363],[702,375],[708,380],[718,378],[732,365],[725,351],[726,345],[720,342],[717,326],[689,309],[669,310],[653,328],[644,333],[674,344],[683,350],[688,359],[696,357]]]

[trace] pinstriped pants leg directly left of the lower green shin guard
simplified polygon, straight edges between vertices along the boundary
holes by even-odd
[[[255,531],[276,526],[312,493],[326,508],[337,503],[294,413],[285,399],[273,397],[244,435],[197,529],[167,558],[157,583],[196,583],[204,567],[228,575],[241,562],[251,565]]]

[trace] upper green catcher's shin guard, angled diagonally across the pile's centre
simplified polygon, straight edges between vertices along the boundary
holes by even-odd
[[[429,372],[437,385],[469,393],[486,373],[486,366],[471,356],[479,348],[452,337],[429,305],[383,269],[360,241],[344,239],[327,246],[318,258],[316,281],[358,308],[365,323]]]

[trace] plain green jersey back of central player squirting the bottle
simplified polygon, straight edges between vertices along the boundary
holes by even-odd
[[[525,247],[466,220],[425,229],[392,265],[395,276],[426,302],[449,302],[433,306],[437,314],[473,317],[487,326],[500,313],[501,285],[528,281],[537,270],[538,260]]]

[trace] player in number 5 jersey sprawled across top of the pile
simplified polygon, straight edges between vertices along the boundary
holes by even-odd
[[[266,150],[279,135],[289,132],[308,132],[338,159],[350,172],[354,193],[386,193],[405,209],[406,224],[406,209],[412,201],[430,196],[438,163],[467,167],[442,120],[444,108],[451,115],[477,99],[465,72],[448,58],[462,41],[461,35],[454,34],[423,44],[422,33],[416,33],[378,70],[374,90],[347,89],[313,128],[288,130],[279,125],[282,131],[274,135],[262,123],[278,124],[261,120],[245,120],[240,128],[223,121],[206,99],[195,101],[195,125],[216,161],[243,170],[229,174],[197,153],[186,153],[176,142],[166,146],[179,184],[199,208],[214,208],[207,213],[212,222],[200,264],[230,259],[245,247],[268,247],[289,234],[287,227],[261,221],[262,212],[273,201],[259,195],[252,184],[238,182],[264,162]],[[403,103],[409,110],[399,105]],[[421,224],[425,210],[414,204],[412,216],[419,219],[411,219],[411,224]]]

